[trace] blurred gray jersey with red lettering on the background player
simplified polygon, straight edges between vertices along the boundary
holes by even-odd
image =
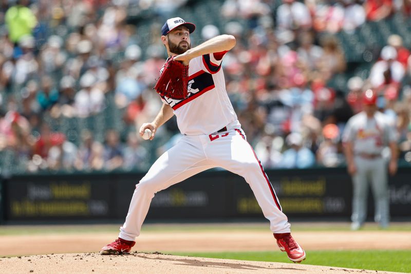
[[[353,143],[354,154],[381,154],[396,139],[395,129],[381,112],[376,112],[373,118],[368,118],[365,112],[352,116],[343,133],[343,141]]]

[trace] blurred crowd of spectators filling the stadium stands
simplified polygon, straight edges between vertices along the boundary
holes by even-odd
[[[179,8],[200,1],[17,0],[0,4],[0,168],[41,170],[146,170],[179,138],[175,121],[161,127],[155,145],[135,133],[161,106],[152,87],[165,62],[161,24]],[[190,4],[190,5],[188,5]],[[344,165],[341,134],[362,111],[364,90],[379,94],[378,108],[398,132],[400,158],[411,162],[411,58],[397,33],[376,45],[366,74],[345,88],[329,86],[349,72],[335,33],[352,33],[394,14],[411,15],[409,0],[226,0],[223,27],[196,22],[198,41],[232,34],[237,45],[223,68],[230,99],[265,168]],[[130,23],[155,14],[144,31]],[[407,22],[410,22],[409,20]],[[142,23],[141,23],[142,24]],[[404,23],[405,24],[405,23]],[[150,25],[149,25],[150,26]],[[148,32],[147,32],[148,30]],[[148,44],[148,46],[147,46]],[[373,49],[375,50],[375,49]],[[370,62],[366,60],[364,63]],[[87,119],[117,109],[103,135],[69,135],[55,121]],[[110,116],[110,113],[108,113]],[[50,122],[54,121],[54,122]],[[116,124],[115,124],[116,125]],[[116,130],[117,129],[117,130]],[[155,157],[152,157],[154,155]],[[6,157],[7,156],[7,157]],[[19,168],[17,170],[17,167]]]

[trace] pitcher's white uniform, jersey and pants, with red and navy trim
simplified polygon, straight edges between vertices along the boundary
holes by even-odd
[[[260,161],[241,130],[221,69],[226,52],[190,61],[189,96],[161,98],[174,109],[183,137],[160,156],[136,185],[119,237],[134,241],[155,193],[199,172],[221,167],[246,179],[274,233],[290,232],[287,216]]]

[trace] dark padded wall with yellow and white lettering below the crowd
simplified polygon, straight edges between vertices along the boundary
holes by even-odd
[[[289,217],[349,220],[351,179],[344,168],[269,170]],[[3,223],[124,220],[143,173],[18,175],[2,181]],[[411,169],[389,178],[391,216],[411,218]],[[270,191],[267,187],[267,191]],[[369,195],[369,217],[372,195]],[[3,214],[2,212],[3,211]],[[263,220],[245,180],[213,170],[163,190],[152,200],[147,220]]]

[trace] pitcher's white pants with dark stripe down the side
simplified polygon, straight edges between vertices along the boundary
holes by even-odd
[[[231,124],[230,124],[231,125]],[[135,241],[154,195],[199,172],[221,167],[246,179],[274,233],[290,232],[274,188],[264,172],[244,132],[227,126],[228,131],[211,135],[187,136],[166,151],[136,185],[119,237]]]

